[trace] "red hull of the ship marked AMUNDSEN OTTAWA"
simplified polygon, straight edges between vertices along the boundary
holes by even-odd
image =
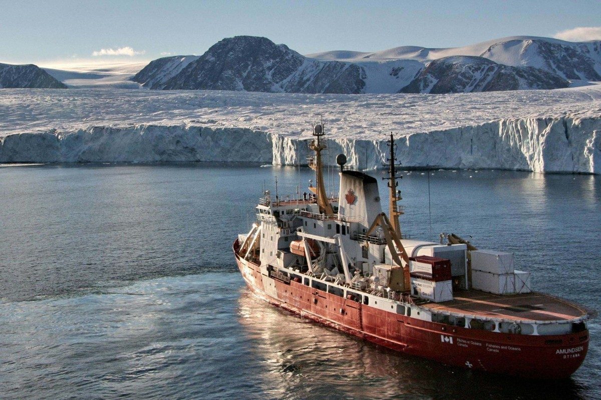
[[[588,351],[588,330],[532,336],[448,326],[382,311],[294,280],[284,283],[271,279],[237,254],[236,262],[248,288],[275,306],[393,350],[447,365],[558,379],[572,375]]]

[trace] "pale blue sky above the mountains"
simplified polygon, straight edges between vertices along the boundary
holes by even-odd
[[[265,36],[303,54],[456,47],[581,27],[593,30],[567,37],[601,38],[600,26],[598,0],[0,0],[0,61],[145,61],[202,54],[234,35]]]

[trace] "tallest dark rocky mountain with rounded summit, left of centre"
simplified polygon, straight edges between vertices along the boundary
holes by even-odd
[[[360,93],[365,85],[352,63],[309,59],[264,37],[225,38],[172,74],[174,62],[182,65],[155,60],[134,79],[159,82],[151,88],[257,92]]]

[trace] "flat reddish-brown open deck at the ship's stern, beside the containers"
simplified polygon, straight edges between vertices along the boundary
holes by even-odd
[[[426,303],[422,306],[433,311],[516,321],[565,321],[587,315],[587,310],[567,300],[537,292],[498,295],[464,290],[456,291],[450,302]]]

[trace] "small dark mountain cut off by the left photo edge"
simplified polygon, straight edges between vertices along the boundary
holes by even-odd
[[[37,65],[0,64],[0,88],[64,89],[66,87]]]

